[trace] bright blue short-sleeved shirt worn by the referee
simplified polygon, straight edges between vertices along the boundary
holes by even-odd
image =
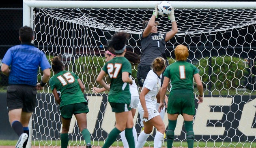
[[[36,86],[39,66],[41,70],[51,68],[45,54],[31,43],[22,43],[8,49],[2,63],[11,69],[9,84]]]

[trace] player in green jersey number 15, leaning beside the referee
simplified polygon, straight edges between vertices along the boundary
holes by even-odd
[[[59,57],[52,60],[54,76],[49,83],[56,102],[60,105],[62,131],[60,134],[61,148],[67,148],[69,143],[69,125],[73,114],[77,125],[86,141],[86,148],[91,148],[90,132],[87,129],[86,114],[89,112],[87,101],[84,98],[84,85],[80,78],[73,72],[64,70],[64,65]],[[60,94],[59,94],[59,93]]]

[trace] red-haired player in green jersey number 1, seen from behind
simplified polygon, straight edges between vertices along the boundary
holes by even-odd
[[[176,62],[169,65],[163,73],[163,85],[161,87],[161,100],[158,110],[164,106],[164,96],[169,82],[171,83],[171,91],[168,98],[168,131],[166,132],[167,147],[172,148],[174,140],[174,129],[176,127],[177,118],[181,114],[184,118],[186,138],[188,148],[193,148],[194,131],[193,117],[195,115],[193,82],[195,80],[199,91],[198,104],[203,102],[203,86],[199,71],[196,66],[188,63],[188,49],[184,45],[178,45],[174,51]],[[194,80],[193,80],[194,79]]]

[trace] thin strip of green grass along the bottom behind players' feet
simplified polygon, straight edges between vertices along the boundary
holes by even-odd
[[[0,140],[0,146],[15,146],[17,140]],[[71,146],[84,146],[84,141],[69,142]],[[92,141],[94,146],[103,146],[104,142]],[[154,142],[148,141],[144,145],[153,147]],[[32,141],[32,146],[60,146],[60,141]],[[166,142],[164,144],[167,146]],[[122,142],[114,142],[112,146],[123,146]],[[187,142],[174,142],[174,147],[187,147]],[[164,147],[164,146],[163,146]],[[208,147],[208,148],[256,148],[256,142],[194,142],[194,147]]]

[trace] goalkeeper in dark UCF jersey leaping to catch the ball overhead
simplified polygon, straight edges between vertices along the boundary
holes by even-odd
[[[149,19],[149,21],[144,21],[142,23],[144,31],[140,35],[141,38],[141,58],[140,63],[138,65],[138,72],[137,72],[137,79],[140,85],[140,88],[143,87],[144,80],[146,79],[146,76],[148,72],[151,70],[151,63],[153,60],[157,57],[163,57],[166,59],[166,66],[168,66],[168,59],[165,54],[166,49],[166,42],[168,42],[170,39],[174,37],[174,35],[178,32],[178,27],[176,24],[176,20],[174,17],[174,8],[172,7],[172,12],[168,16],[172,23],[172,30],[170,32],[167,32],[166,34],[160,34],[157,32],[157,22],[155,22],[155,19],[158,15],[157,11],[158,4],[155,5],[155,9],[153,11],[153,15]],[[163,84],[163,78],[161,79],[161,84]],[[157,100],[157,106],[158,108],[160,100]],[[167,105],[168,99],[166,96],[166,105]],[[160,112],[160,116],[163,119],[165,114],[165,108],[163,108],[162,112]],[[143,130],[143,123],[141,122],[142,130]]]

